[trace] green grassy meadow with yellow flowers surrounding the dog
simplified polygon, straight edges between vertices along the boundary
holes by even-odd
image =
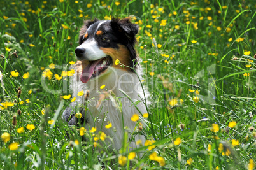
[[[0,0],[0,8],[0,169],[255,169],[253,0]],[[99,143],[108,136],[61,119],[75,101],[69,67],[80,27],[111,17],[139,25],[150,92],[149,113],[136,120],[147,121],[148,140],[132,151],[110,152]]]

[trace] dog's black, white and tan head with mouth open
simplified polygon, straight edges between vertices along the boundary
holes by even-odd
[[[129,67],[138,62],[134,49],[137,33],[138,25],[132,24],[129,18],[85,21],[80,31],[79,46],[75,50],[80,60],[80,80],[87,83],[108,73],[110,67],[132,71]],[[128,67],[117,66],[117,59]]]

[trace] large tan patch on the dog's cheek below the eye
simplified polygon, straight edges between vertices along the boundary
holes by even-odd
[[[120,67],[119,64],[115,65],[115,60],[120,60],[122,64],[125,66],[129,66],[130,63],[130,52],[124,45],[118,45],[119,49],[114,48],[103,48],[100,49],[103,50],[106,55],[110,55],[110,57],[113,59],[113,67],[116,69],[125,69],[126,71],[130,71],[131,69],[129,67]]]

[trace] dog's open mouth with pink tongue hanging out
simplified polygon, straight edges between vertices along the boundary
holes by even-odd
[[[80,80],[83,83],[87,83],[90,78],[95,78],[103,73],[112,64],[110,56],[106,56],[99,60],[90,61],[87,67],[85,67],[80,76]]]

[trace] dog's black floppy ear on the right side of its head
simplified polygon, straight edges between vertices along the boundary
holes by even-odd
[[[125,33],[128,37],[135,36],[139,31],[139,25],[132,24],[130,18],[111,18],[110,24],[113,30]]]

